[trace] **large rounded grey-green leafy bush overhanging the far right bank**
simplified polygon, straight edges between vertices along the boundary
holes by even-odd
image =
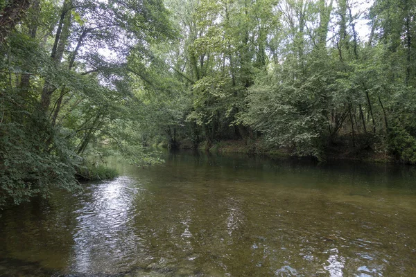
[[[293,78],[301,74],[302,78]],[[302,69],[283,64],[250,89],[248,111],[241,119],[261,131],[270,145],[322,158],[322,144],[331,135],[327,116],[333,104],[333,82],[324,59],[311,60]]]

